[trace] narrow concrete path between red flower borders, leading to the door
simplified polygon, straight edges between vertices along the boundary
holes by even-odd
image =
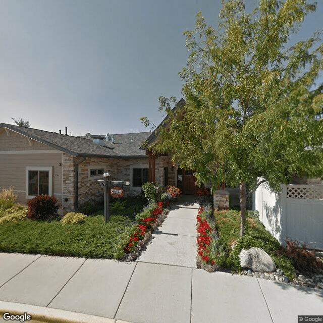
[[[195,199],[196,196],[184,195],[171,205],[164,223],[153,232],[137,261],[196,268]]]

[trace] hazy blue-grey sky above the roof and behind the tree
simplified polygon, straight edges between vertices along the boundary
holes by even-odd
[[[2,0],[0,122],[21,117],[37,129],[68,126],[74,136],[147,131],[139,118],[163,119],[160,95],[182,97],[183,32],[199,10],[217,27],[221,7],[220,0]],[[319,0],[292,41],[323,29],[321,17]]]

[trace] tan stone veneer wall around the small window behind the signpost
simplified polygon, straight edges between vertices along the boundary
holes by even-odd
[[[73,157],[63,153],[63,211],[74,210],[74,181],[75,181],[75,161],[81,160],[81,157]],[[95,158],[87,157],[85,161],[79,164],[79,182],[78,182],[78,205],[86,203],[91,199],[102,199],[103,189],[97,182],[103,179],[102,175],[90,177],[91,169],[104,169],[104,172],[110,173],[110,180],[131,181],[131,166],[145,165],[148,168],[147,158]],[[136,195],[138,190],[131,190],[130,185],[124,186],[126,195]],[[68,198],[65,202],[64,199]]]

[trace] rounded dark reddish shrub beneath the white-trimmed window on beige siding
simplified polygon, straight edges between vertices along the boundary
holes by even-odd
[[[29,200],[27,218],[35,220],[49,220],[58,216],[59,205],[54,196],[38,195]]]

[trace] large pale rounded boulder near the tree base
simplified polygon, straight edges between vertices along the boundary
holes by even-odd
[[[276,270],[272,257],[261,248],[242,249],[239,258],[241,267],[250,268],[253,272],[265,273]]]

